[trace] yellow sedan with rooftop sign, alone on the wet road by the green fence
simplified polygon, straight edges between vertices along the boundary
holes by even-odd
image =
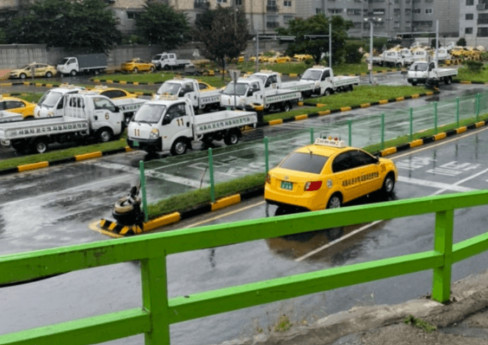
[[[339,208],[376,191],[391,193],[397,179],[392,160],[377,158],[332,137],[318,138],[270,169],[264,199],[285,208]]]

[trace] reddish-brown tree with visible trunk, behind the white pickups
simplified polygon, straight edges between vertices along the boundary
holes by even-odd
[[[226,58],[237,58],[246,49],[250,33],[242,11],[218,6],[197,19],[194,37],[203,55],[225,69]]]

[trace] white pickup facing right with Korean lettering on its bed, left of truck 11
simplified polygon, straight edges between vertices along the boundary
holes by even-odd
[[[61,117],[35,118],[0,124],[0,144],[24,152],[44,153],[49,144],[108,142],[122,133],[123,115],[106,96],[67,94]]]

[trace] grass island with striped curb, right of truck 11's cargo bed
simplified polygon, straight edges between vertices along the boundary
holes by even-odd
[[[383,99],[392,99],[401,96],[410,96],[412,94],[423,94],[429,91],[423,86],[391,86],[391,85],[360,85],[355,86],[352,92],[340,92],[330,96],[324,96],[314,99],[307,99],[307,103],[323,103],[325,106],[320,108],[305,108],[291,110],[288,112],[277,112],[264,116],[264,121],[275,119],[287,119],[302,114],[311,114],[323,110],[334,110],[342,107],[359,106],[362,103],[373,103]]]

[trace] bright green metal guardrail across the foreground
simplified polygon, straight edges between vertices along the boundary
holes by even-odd
[[[488,233],[453,244],[454,210],[487,204],[488,191],[428,196],[3,255],[0,285],[140,260],[143,301],[142,308],[0,335],[0,344],[94,344],[141,333],[145,344],[170,344],[172,323],[427,269],[432,298],[446,302],[452,264],[488,249]],[[168,298],[169,254],[428,213],[436,214],[432,251]]]

